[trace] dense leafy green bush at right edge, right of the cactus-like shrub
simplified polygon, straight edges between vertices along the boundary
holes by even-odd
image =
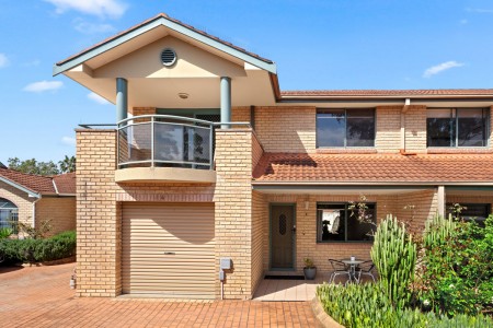
[[[474,222],[434,219],[423,238],[415,290],[436,313],[477,314],[493,303],[493,216]]]

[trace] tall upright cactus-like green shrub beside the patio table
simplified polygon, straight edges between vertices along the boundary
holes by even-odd
[[[395,218],[388,215],[377,227],[371,259],[378,270],[386,295],[397,308],[411,301],[410,283],[414,280],[416,244]]]

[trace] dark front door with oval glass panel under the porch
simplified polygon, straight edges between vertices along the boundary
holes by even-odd
[[[271,269],[295,268],[295,206],[271,207]]]

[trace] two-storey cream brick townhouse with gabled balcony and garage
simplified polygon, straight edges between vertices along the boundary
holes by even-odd
[[[273,61],[165,14],[54,74],[116,105],[77,129],[80,296],[250,298],[306,257],[369,258],[360,195],[415,232],[491,213],[491,89],[280,91]]]

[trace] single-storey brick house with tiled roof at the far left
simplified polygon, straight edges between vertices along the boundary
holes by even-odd
[[[76,174],[25,174],[0,167],[0,229],[22,222],[39,227],[49,220],[53,235],[76,230]]]

